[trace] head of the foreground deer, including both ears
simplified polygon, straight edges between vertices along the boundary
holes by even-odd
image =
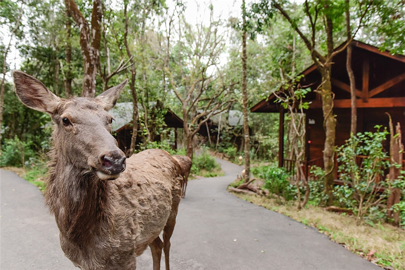
[[[24,72],[14,71],[13,77],[21,102],[51,115],[57,159],[65,161],[66,166],[94,171],[103,180],[116,179],[125,170],[125,155],[111,135],[108,110],[114,107],[128,80],[96,98],[62,99]]]

